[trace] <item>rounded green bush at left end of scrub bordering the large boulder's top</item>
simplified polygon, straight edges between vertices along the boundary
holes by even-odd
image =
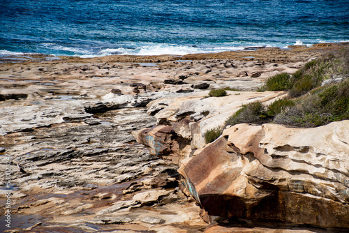
[[[225,126],[234,126],[237,123],[260,123],[261,120],[266,118],[265,106],[259,101],[255,101],[242,105],[242,108],[225,121]]]

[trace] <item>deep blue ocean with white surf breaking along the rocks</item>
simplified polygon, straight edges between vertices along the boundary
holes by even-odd
[[[0,55],[181,55],[340,41],[349,41],[348,0],[0,1]]]

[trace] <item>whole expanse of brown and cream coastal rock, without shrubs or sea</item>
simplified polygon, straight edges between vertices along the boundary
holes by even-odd
[[[346,43],[0,63],[4,232],[346,232],[348,121],[204,133]],[[228,96],[209,97],[225,88]],[[6,227],[11,193],[11,227]]]

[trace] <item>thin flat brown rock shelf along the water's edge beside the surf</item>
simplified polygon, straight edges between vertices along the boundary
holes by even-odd
[[[341,47],[349,45],[349,42],[341,43],[318,43],[310,47],[306,45],[289,45],[288,48],[280,47],[246,47],[244,50],[234,50],[225,52],[207,52],[185,55],[162,54],[162,55],[107,55],[103,57],[77,57],[77,56],[54,56],[52,54],[2,54],[0,55],[1,63],[27,63],[27,62],[43,62],[43,61],[70,61],[70,62],[142,62],[142,63],[160,63],[165,61],[183,60],[201,60],[201,59],[237,59],[242,61],[262,60],[273,61],[272,56],[275,55],[275,62],[289,62],[288,56],[299,54],[302,52],[325,52],[329,50],[338,50]],[[278,56],[279,53],[285,56]],[[269,60],[268,60],[269,59]],[[293,59],[292,59],[293,60]]]

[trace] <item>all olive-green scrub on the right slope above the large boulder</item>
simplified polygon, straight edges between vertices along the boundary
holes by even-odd
[[[339,83],[322,85],[334,75]],[[281,73],[269,77],[259,91],[288,91],[288,98],[264,106],[259,101],[242,105],[224,126],[205,133],[213,142],[222,128],[238,123],[281,123],[293,127],[323,126],[332,121],[349,119],[349,51],[327,53],[306,63],[293,75]]]

